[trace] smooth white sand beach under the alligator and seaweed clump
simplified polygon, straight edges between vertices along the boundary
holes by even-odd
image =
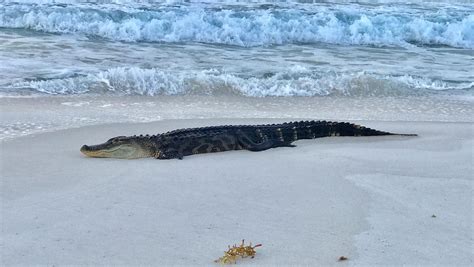
[[[284,120],[164,120],[4,141],[3,264],[211,265],[242,238],[263,244],[247,264],[473,264],[472,123],[358,122],[420,136],[181,161],[79,153],[116,135],[274,121]]]

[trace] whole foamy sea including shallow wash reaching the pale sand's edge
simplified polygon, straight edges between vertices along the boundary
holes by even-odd
[[[203,118],[472,121],[469,1],[1,1],[0,139]]]

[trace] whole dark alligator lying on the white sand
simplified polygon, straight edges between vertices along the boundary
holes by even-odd
[[[183,159],[184,156],[229,150],[263,151],[295,147],[300,139],[327,136],[379,136],[395,134],[347,122],[299,121],[264,125],[223,125],[178,129],[157,135],[117,136],[99,145],[81,147],[89,157]]]

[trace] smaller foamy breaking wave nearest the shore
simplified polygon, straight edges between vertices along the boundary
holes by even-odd
[[[473,82],[449,82],[415,76],[317,72],[300,66],[259,77],[239,77],[217,70],[171,72],[159,69],[114,68],[97,74],[21,82],[16,93],[51,95],[241,95],[267,96],[403,96],[470,90]]]

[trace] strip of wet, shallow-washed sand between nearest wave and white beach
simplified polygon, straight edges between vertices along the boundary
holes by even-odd
[[[48,96],[0,98],[0,141],[110,123],[169,119],[284,118],[474,122],[470,100],[438,97],[246,98],[239,96]]]

